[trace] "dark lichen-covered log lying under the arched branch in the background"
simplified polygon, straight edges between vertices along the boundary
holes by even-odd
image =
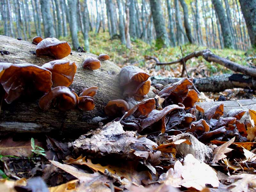
[[[150,77],[152,84],[171,84],[182,78]],[[226,89],[246,88],[256,90],[256,78],[242,74],[223,74],[218,76],[193,78],[193,83],[200,92],[221,92]]]

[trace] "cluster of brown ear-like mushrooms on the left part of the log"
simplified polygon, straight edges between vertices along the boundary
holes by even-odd
[[[56,107],[67,111],[78,108],[88,111],[95,107],[93,96],[98,87],[89,87],[81,91],[79,97],[68,88],[74,81],[76,63],[61,60],[71,52],[67,42],[56,38],[34,37],[32,43],[37,44],[37,56],[53,56],[56,59],[39,67],[29,63],[0,63],[0,83],[5,92],[4,100],[10,104],[22,95],[44,94],[39,100],[39,107],[48,110]]]

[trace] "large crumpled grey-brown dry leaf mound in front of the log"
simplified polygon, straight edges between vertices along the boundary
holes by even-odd
[[[98,156],[115,155],[120,158],[148,159],[153,154],[153,146],[157,144],[146,136],[138,135],[133,131],[124,131],[120,122],[111,122],[97,129],[90,138],[85,135],[69,146],[74,147],[77,153],[92,153]]]

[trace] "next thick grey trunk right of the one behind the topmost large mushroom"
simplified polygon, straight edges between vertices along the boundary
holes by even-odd
[[[79,47],[78,37],[77,37],[77,20],[76,20],[76,11],[72,9],[72,7],[76,8],[76,1],[68,0],[68,7],[69,7],[69,15],[70,15],[70,23],[69,29],[71,33],[71,39],[73,44],[73,49],[76,50]],[[76,10],[76,9],[75,9]]]

